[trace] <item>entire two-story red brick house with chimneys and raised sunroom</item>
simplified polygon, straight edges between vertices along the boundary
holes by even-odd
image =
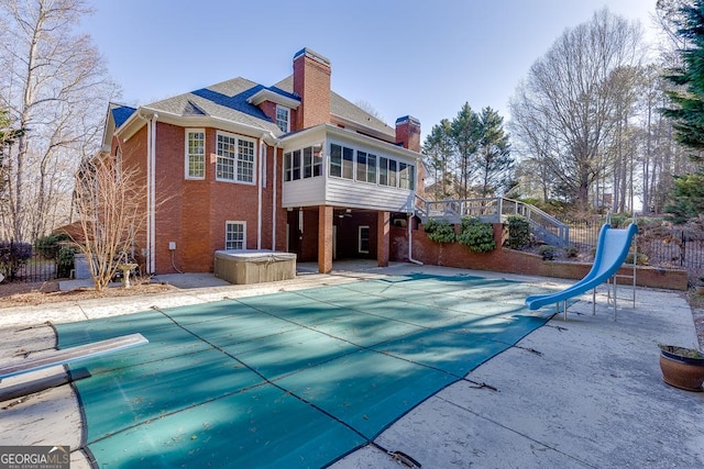
[[[413,212],[420,124],[392,129],[330,89],[330,60],[304,48],[293,75],[234,78],[138,109],[111,103],[101,155],[138,168],[142,271],[206,272],[219,249],[389,260],[389,226]]]

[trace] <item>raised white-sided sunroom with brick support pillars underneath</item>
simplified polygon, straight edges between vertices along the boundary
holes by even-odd
[[[413,212],[419,154],[330,124],[282,139],[282,205],[288,210],[287,250],[318,260],[388,263],[392,217]]]

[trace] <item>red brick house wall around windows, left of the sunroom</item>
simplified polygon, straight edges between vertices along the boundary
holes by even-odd
[[[212,271],[213,252],[224,248],[226,221],[246,223],[246,247],[257,247],[257,185],[216,181],[216,132],[206,129],[206,178],[185,178],[185,127],[157,123],[156,131],[156,273]],[[125,168],[136,167],[146,191],[146,126],[122,144]],[[258,142],[256,144],[258,165]],[[280,175],[283,157],[277,157]],[[286,212],[277,209],[276,246],[272,246],[274,148],[266,147],[266,187],[262,189],[262,238],[264,249],[285,247]],[[255,168],[255,175],[258,169]],[[255,176],[256,178],[256,176]],[[280,177],[276,206],[280,206]],[[257,181],[258,183],[258,181]],[[146,215],[145,220],[146,220]],[[146,246],[146,223],[140,233],[140,248]],[[168,243],[176,243],[176,250]]]

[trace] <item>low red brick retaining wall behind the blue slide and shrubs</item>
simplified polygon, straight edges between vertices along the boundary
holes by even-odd
[[[408,228],[392,226],[391,257],[394,260],[408,260]],[[428,239],[421,228],[413,230],[413,257],[431,266],[458,267],[495,272],[557,277],[579,280],[592,268],[585,263],[556,263],[542,260],[540,256],[512,249],[497,248],[491,253],[473,253],[459,243],[440,244]],[[494,225],[494,238],[501,245],[503,227]],[[628,275],[623,268],[619,273]],[[654,267],[638,267],[636,281],[641,287],[686,290],[685,270],[666,270]]]

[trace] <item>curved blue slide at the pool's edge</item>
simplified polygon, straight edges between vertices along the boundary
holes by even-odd
[[[630,243],[638,232],[638,226],[631,223],[625,230],[612,228],[607,223],[598,233],[596,255],[588,273],[579,282],[562,291],[548,294],[532,294],[526,298],[526,306],[537,310],[546,304],[559,303],[587,290],[598,287],[608,280],[626,260]]]

